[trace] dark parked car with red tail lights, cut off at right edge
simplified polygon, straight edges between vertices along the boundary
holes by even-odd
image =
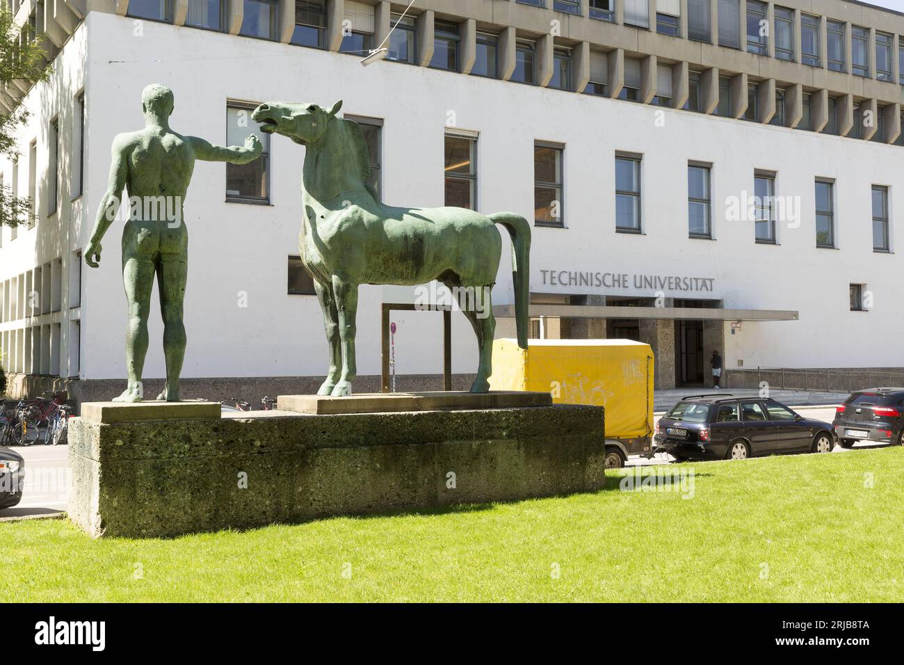
[[[843,448],[856,441],[904,445],[904,388],[858,390],[835,409],[832,424]]]

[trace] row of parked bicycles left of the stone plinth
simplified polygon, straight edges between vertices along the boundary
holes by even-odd
[[[0,409],[0,446],[61,445],[68,440],[72,407],[65,391],[33,400],[6,400]]]

